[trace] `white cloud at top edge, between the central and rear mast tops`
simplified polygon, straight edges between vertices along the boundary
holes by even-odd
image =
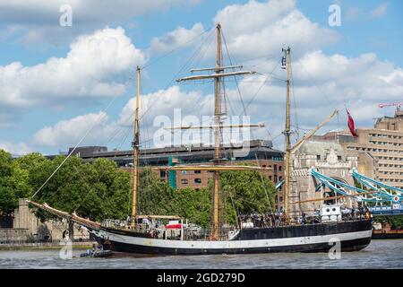
[[[294,0],[229,5],[213,22],[221,23],[228,49],[237,57],[267,57],[284,45],[301,55],[339,39],[334,30],[306,18]]]

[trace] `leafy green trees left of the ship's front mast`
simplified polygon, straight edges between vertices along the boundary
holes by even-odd
[[[30,153],[13,160],[0,151],[0,213],[10,214],[18,199],[30,197],[56,170],[64,156],[52,161],[39,153]],[[68,213],[77,213],[90,220],[125,219],[130,203],[130,174],[116,169],[116,163],[98,159],[92,164],[70,157],[34,198]],[[45,220],[51,215],[38,211]]]

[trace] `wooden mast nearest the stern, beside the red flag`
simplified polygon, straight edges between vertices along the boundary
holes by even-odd
[[[286,218],[289,216],[289,207],[288,207],[288,202],[289,202],[289,190],[290,190],[290,168],[291,168],[291,140],[290,140],[290,134],[291,134],[291,120],[290,120],[290,100],[289,100],[289,82],[290,82],[290,51],[291,48],[284,49],[283,52],[286,57],[286,63],[287,63],[287,108],[286,108],[286,129],[284,130],[284,135],[286,135],[286,159],[285,159],[285,164],[286,164],[286,174],[285,174],[285,182],[284,182],[284,214]]]

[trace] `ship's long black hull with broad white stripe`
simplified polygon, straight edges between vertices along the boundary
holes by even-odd
[[[244,239],[251,235],[256,239]],[[96,236],[114,251],[156,255],[326,252],[338,241],[341,251],[365,248],[371,242],[372,228],[369,221],[256,228],[241,230],[235,239],[225,241],[151,239],[109,229],[99,230]]]

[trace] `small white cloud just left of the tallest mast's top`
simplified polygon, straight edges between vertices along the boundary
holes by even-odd
[[[167,53],[178,47],[190,45],[192,40],[204,31],[201,23],[193,25],[192,29],[187,30],[183,27],[177,27],[158,38],[153,38],[150,43],[151,54]]]

